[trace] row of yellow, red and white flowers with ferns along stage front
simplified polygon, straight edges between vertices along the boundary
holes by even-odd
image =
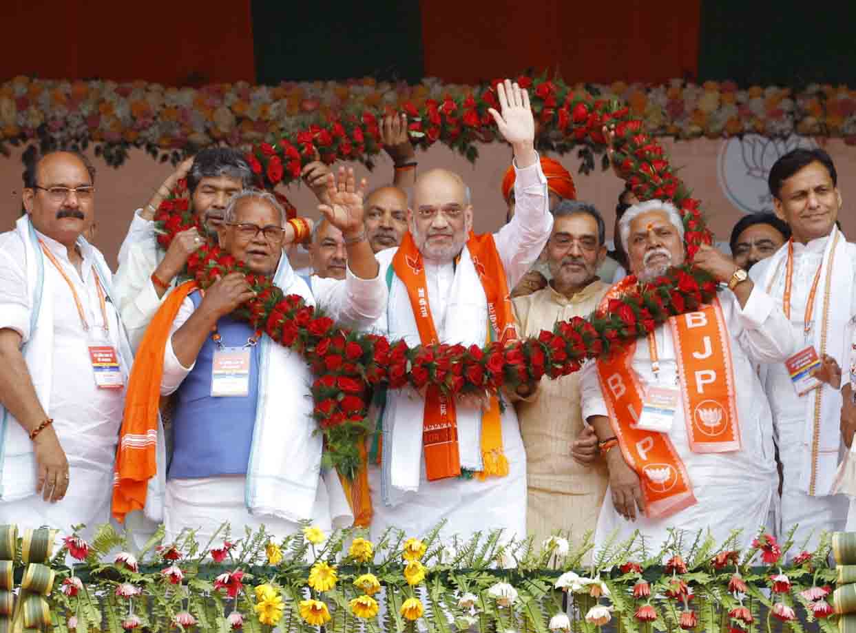
[[[594,633],[614,623],[630,633],[771,633],[774,622],[802,631],[799,615],[833,633],[829,616],[842,610],[829,534],[785,565],[790,535],[780,546],[759,532],[744,551],[738,534],[723,543],[673,534],[657,552],[636,538],[592,552],[587,538],[572,549],[562,534],[538,546],[498,533],[443,543],[441,527],[424,540],[392,528],[372,542],[360,530],[306,525],[276,539],[224,525],[204,544],[189,532],[164,544],[160,531],[134,555],[104,525],[92,542],[66,537],[51,558],[54,532],[19,539],[0,526],[0,629]]]

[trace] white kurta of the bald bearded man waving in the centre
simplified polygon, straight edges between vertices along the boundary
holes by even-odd
[[[517,200],[514,218],[494,234],[510,288],[532,267],[552,228],[552,216],[547,207],[547,180],[539,161],[531,167],[517,170],[514,193]],[[387,274],[387,268],[391,266],[396,250],[389,248],[377,254],[382,277]],[[461,331],[463,326],[471,330],[472,336],[468,336],[470,342],[484,344],[488,319],[484,294],[452,296],[451,289],[455,281],[455,266],[452,262],[438,265],[425,261],[425,280],[431,316],[441,343],[462,343],[460,339],[450,340],[449,332]],[[394,303],[407,305],[407,308],[402,309],[409,309],[407,291],[403,284],[398,283],[397,278],[393,280],[389,295],[389,304]],[[410,331],[390,327],[389,312],[388,308],[387,314],[374,325],[374,330],[389,337],[390,341],[404,337],[411,347],[419,345],[418,335],[413,336]],[[461,325],[462,314],[478,316]],[[391,428],[395,428],[395,404],[401,398],[421,400],[421,397],[410,389],[389,391],[385,421]],[[461,415],[460,412],[465,408],[461,406],[458,409]],[[463,439],[461,441],[463,442]],[[502,413],[502,445],[508,457],[510,472],[505,477],[489,477],[486,481],[452,478],[429,482],[425,477],[425,458],[420,451],[419,489],[400,492],[400,499],[396,499],[395,505],[384,505],[381,469],[372,466],[369,469],[374,506],[372,538],[377,539],[389,527],[404,529],[408,535],[425,536],[443,519],[448,521],[442,533],[446,539],[458,535],[466,540],[475,532],[487,534],[496,528],[504,530],[503,538],[506,540],[513,536],[525,537],[526,452],[512,406],[508,406]]]

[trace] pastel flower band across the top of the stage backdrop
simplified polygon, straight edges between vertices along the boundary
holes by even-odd
[[[775,86],[740,89],[732,81],[707,81],[698,86],[677,79],[654,86],[624,81],[568,84],[532,76],[521,76],[519,81],[536,92],[539,88],[549,92],[544,86],[556,88],[556,105],[534,104],[544,128],[544,146],[550,146],[556,135],[562,136],[562,120],[556,111],[568,94],[620,99],[652,135],[691,139],[797,133],[856,143],[856,91],[846,86],[811,84],[796,91]],[[416,86],[364,78],[286,82],[272,87],[239,82],[177,88],[146,81],[52,81],[19,76],[0,85],[0,146],[38,141],[43,148],[86,148],[93,143],[109,164],[118,165],[131,147],[145,147],[158,156],[163,151],[219,141],[231,146],[273,142],[354,112],[397,110],[407,103],[421,109],[429,100],[443,103],[447,98],[461,103],[467,95],[478,97],[483,92],[484,87],[444,84],[436,79],[425,79]],[[544,115],[542,108],[556,111]],[[562,152],[568,147],[558,144],[555,149]]]

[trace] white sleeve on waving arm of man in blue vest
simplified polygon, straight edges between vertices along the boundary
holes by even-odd
[[[386,308],[386,282],[383,266],[373,279],[359,278],[348,266],[344,279],[312,276],[312,294],[318,308],[330,318],[356,329],[367,330]]]

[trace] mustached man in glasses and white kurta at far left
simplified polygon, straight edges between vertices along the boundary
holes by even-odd
[[[132,362],[110,268],[83,237],[95,170],[51,152],[24,172],[26,214],[0,235],[0,523],[81,534],[110,518]]]

